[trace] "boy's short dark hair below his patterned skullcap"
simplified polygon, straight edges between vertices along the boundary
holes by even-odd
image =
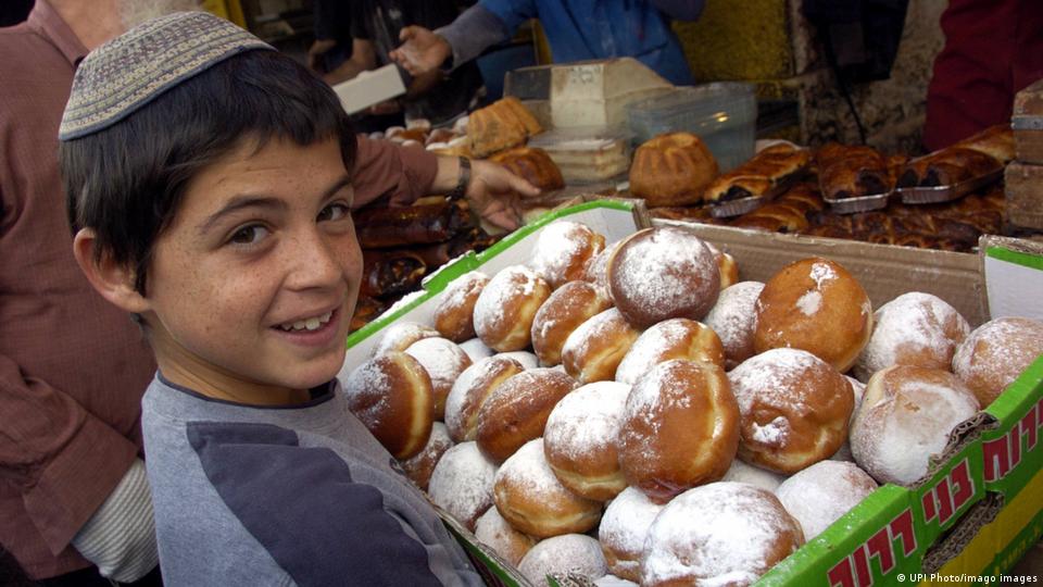
[[[60,142],[73,233],[93,228],[95,258],[133,267],[143,295],[155,240],[192,177],[247,141],[260,149],[273,138],[301,146],[338,138],[344,167],[353,168],[355,134],[322,79],[276,51],[217,63],[123,121]]]

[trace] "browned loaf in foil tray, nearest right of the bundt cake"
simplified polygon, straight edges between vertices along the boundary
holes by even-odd
[[[802,175],[810,163],[807,149],[787,142],[762,149],[745,163],[717,176],[703,195],[711,204],[745,198],[765,198]]]

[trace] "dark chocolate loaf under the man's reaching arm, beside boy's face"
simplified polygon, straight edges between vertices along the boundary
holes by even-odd
[[[443,242],[474,223],[457,202],[410,208],[364,208],[355,214],[363,249]]]

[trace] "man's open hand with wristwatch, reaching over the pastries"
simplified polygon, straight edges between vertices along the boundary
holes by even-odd
[[[540,190],[532,184],[489,161],[470,162],[470,184],[464,192],[473,210],[491,224],[514,230],[522,224],[518,197],[532,198]]]

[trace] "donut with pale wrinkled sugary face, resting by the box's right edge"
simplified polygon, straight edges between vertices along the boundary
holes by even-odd
[[[908,485],[927,474],[948,433],[976,412],[975,395],[952,373],[894,365],[869,379],[851,452],[878,482]]]

